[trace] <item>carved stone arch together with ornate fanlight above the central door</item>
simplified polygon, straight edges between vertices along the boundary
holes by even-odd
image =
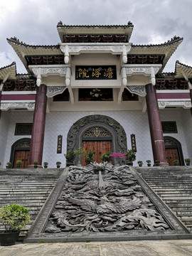
[[[79,119],[68,132],[67,151],[74,151],[88,140],[110,140],[112,151],[127,152],[127,136],[119,122],[101,114]]]

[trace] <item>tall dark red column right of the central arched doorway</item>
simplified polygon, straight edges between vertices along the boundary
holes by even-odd
[[[146,85],[146,107],[149,118],[154,161],[159,160],[160,166],[168,166],[166,161],[166,151],[163,131],[161,127],[159,107],[156,99],[156,91],[155,87],[151,84]]]

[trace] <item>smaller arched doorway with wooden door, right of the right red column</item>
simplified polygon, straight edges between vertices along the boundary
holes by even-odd
[[[169,166],[174,166],[174,160],[178,160],[178,165],[185,165],[183,160],[183,152],[181,148],[181,143],[173,137],[164,137],[164,144],[166,149],[166,160]]]

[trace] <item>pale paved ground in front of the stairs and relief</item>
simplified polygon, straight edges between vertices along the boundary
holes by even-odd
[[[66,242],[0,246],[1,256],[183,256],[192,255],[191,240]]]

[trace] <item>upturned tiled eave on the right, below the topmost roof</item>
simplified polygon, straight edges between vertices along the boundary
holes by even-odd
[[[132,46],[129,54],[164,54],[165,58],[163,60],[163,65],[159,70],[159,73],[164,70],[166,63],[171,58],[171,55],[175,52],[176,48],[183,41],[183,38],[178,38],[176,40],[172,40],[169,43],[161,43],[159,45],[146,45],[146,46]]]

